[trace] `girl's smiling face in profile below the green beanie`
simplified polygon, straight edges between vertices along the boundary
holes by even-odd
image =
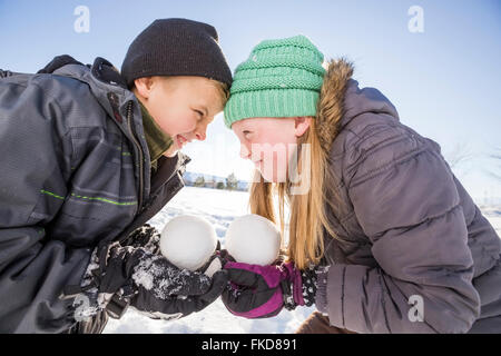
[[[249,118],[234,122],[232,129],[240,141],[240,157],[250,159],[267,181],[287,181],[297,138],[310,127],[311,119]]]

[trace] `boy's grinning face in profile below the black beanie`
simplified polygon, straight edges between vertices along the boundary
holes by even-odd
[[[205,140],[207,126],[224,108],[219,90],[204,77],[140,78],[135,85],[134,93],[174,140],[165,156],[194,139]]]

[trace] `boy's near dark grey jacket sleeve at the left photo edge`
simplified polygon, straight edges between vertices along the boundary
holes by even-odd
[[[90,257],[50,235],[71,147],[52,122],[57,102],[10,79],[0,80],[0,333],[61,333],[75,319],[59,296]]]

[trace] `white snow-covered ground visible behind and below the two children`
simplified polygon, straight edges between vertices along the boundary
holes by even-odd
[[[229,222],[237,216],[248,214],[247,204],[247,192],[186,187],[149,222],[161,230],[177,215],[203,216],[214,225],[224,247],[224,236]],[[479,207],[501,236],[501,208]],[[284,334],[294,333],[313,310],[314,307],[298,307],[294,312],[283,310],[274,318],[252,320],[233,316],[218,299],[200,313],[174,322],[151,320],[129,309],[121,319],[110,319],[105,333]]]

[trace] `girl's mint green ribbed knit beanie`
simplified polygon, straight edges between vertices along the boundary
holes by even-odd
[[[323,60],[301,34],[259,42],[235,70],[224,109],[226,126],[247,118],[315,116]]]

